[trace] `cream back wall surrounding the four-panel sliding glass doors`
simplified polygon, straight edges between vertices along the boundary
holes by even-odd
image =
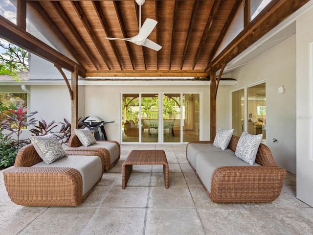
[[[166,84],[166,82],[163,82]],[[93,86],[86,85],[85,115],[99,116],[106,121],[115,121],[106,125],[109,140],[120,140],[121,93],[202,93],[202,140],[210,139],[209,86]]]

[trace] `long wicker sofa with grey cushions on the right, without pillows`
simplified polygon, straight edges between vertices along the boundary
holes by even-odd
[[[274,163],[268,147],[260,144],[253,165],[235,156],[239,137],[232,136],[225,150],[212,141],[187,144],[187,160],[212,202],[271,202],[281,193],[286,170]],[[231,162],[231,165],[229,165]]]

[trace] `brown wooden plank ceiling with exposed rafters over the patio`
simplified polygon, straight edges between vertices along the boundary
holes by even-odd
[[[271,0],[250,21],[250,0],[146,0],[142,23],[147,18],[158,22],[148,37],[162,46],[156,52],[105,39],[138,33],[139,6],[134,0],[17,0],[17,25],[0,16],[0,36],[59,67],[74,71],[78,66],[81,77],[207,79],[307,1]],[[37,23],[45,24],[77,63],[25,31],[26,5],[37,16]],[[243,6],[244,29],[216,55]]]

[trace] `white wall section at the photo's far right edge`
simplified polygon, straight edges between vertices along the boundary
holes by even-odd
[[[297,198],[313,206],[313,9],[296,21]],[[311,57],[311,60],[310,60]],[[311,73],[310,73],[311,72]]]

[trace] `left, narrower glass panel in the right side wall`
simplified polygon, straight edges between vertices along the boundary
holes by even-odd
[[[241,136],[245,131],[245,90],[233,92],[231,101],[233,135]]]

